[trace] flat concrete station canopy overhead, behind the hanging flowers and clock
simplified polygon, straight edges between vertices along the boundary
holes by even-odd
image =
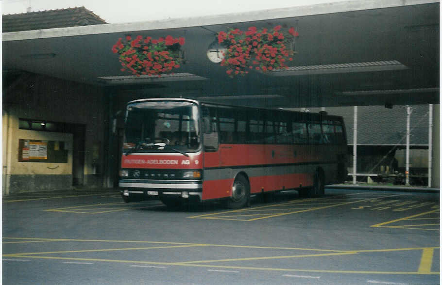
[[[207,57],[219,32],[294,28],[288,68],[244,76]],[[121,71],[119,38],[182,37],[174,74]],[[3,33],[3,72],[270,108],[439,103],[439,1],[344,1],[220,16]]]

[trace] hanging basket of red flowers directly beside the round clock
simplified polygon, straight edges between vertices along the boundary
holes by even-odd
[[[267,72],[287,68],[286,63],[293,60],[294,40],[299,33],[294,28],[281,29],[278,25],[272,30],[250,27],[245,32],[239,29],[219,32],[218,43],[226,48],[221,61],[221,65],[227,67],[226,73],[234,77],[245,75],[251,69]]]

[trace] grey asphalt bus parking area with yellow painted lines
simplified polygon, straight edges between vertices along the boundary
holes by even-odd
[[[6,197],[3,284],[439,284],[439,207],[439,193],[340,189],[238,210]]]

